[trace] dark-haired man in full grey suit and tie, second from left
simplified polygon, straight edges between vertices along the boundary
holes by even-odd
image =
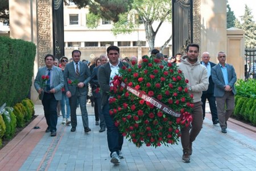
[[[80,102],[82,114],[82,125],[84,126],[84,132],[86,133],[90,131],[88,123],[88,113],[86,109],[86,87],[90,81],[90,70],[88,65],[86,65],[84,62],[80,62],[80,57],[80,50],[73,50],[73,62],[68,63],[65,67],[64,82],[66,95],[69,98],[69,105],[71,109],[71,132],[76,131],[76,108],[78,99]]]

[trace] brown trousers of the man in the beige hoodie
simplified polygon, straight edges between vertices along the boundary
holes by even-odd
[[[181,129],[181,144],[183,147],[183,151],[189,150],[189,144],[191,144],[195,139],[196,136],[199,134],[200,130],[202,129],[203,125],[203,110],[202,110],[202,102],[195,102],[194,108],[192,110],[192,128],[184,127]],[[190,130],[190,131],[189,131]]]

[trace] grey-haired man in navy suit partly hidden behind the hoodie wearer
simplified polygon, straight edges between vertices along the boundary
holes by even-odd
[[[210,106],[210,113],[212,114],[212,122],[213,125],[216,125],[218,123],[218,115],[217,115],[217,108],[216,108],[216,100],[215,97],[213,96],[214,93],[214,83],[212,81],[212,75],[211,69],[213,66],[215,66],[215,63],[210,62],[210,54],[209,52],[204,52],[202,54],[202,61],[201,65],[205,66],[207,68],[208,72],[208,78],[209,78],[209,87],[207,91],[203,91],[203,95],[201,96],[201,101],[203,102],[203,119],[205,117],[205,102],[206,100],[209,101],[209,106]]]

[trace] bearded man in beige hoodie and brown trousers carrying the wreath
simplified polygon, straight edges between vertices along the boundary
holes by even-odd
[[[189,163],[190,156],[192,155],[192,142],[196,139],[203,125],[201,95],[203,91],[207,91],[209,82],[207,69],[201,65],[198,59],[199,45],[189,44],[186,51],[187,55],[181,58],[181,63],[177,66],[183,71],[185,78],[188,79],[188,90],[193,96],[191,130],[190,127],[184,127],[181,130],[181,144],[183,147],[182,161]]]

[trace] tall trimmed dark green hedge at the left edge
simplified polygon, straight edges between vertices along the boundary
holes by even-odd
[[[14,106],[28,95],[36,46],[32,42],[0,37],[0,105]]]

